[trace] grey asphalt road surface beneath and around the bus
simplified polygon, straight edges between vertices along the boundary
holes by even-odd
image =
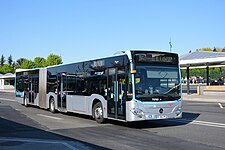
[[[222,107],[221,107],[222,105]],[[225,149],[225,104],[183,102],[178,120],[98,124],[77,114],[52,114],[0,92],[0,149]]]

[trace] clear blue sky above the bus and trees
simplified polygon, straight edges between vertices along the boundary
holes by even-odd
[[[225,47],[224,0],[0,0],[0,55],[64,63],[155,49]]]

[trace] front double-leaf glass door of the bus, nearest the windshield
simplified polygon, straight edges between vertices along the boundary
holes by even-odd
[[[125,120],[125,69],[108,69],[108,116]]]

